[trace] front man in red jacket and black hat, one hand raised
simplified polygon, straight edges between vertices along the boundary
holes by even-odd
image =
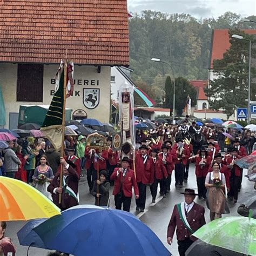
[[[134,171],[130,169],[130,159],[122,159],[121,168],[115,168],[110,179],[114,180],[114,203],[116,209],[130,212],[132,200],[132,187],[134,188],[135,198],[139,198],[139,189],[134,176]]]

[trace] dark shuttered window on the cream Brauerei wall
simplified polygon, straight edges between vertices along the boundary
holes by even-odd
[[[17,102],[43,102],[44,65],[18,64]]]

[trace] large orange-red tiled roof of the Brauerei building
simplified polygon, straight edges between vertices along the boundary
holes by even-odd
[[[129,65],[126,0],[0,2],[0,62]]]

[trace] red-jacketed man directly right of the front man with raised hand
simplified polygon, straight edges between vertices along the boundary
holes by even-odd
[[[147,146],[142,145],[136,154],[136,179],[139,188],[139,198],[136,199],[136,211],[144,212],[146,204],[146,186],[154,181],[154,165],[152,157],[147,154]]]

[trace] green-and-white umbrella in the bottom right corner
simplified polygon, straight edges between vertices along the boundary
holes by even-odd
[[[216,219],[199,228],[193,235],[210,245],[256,255],[256,220],[250,217]]]

